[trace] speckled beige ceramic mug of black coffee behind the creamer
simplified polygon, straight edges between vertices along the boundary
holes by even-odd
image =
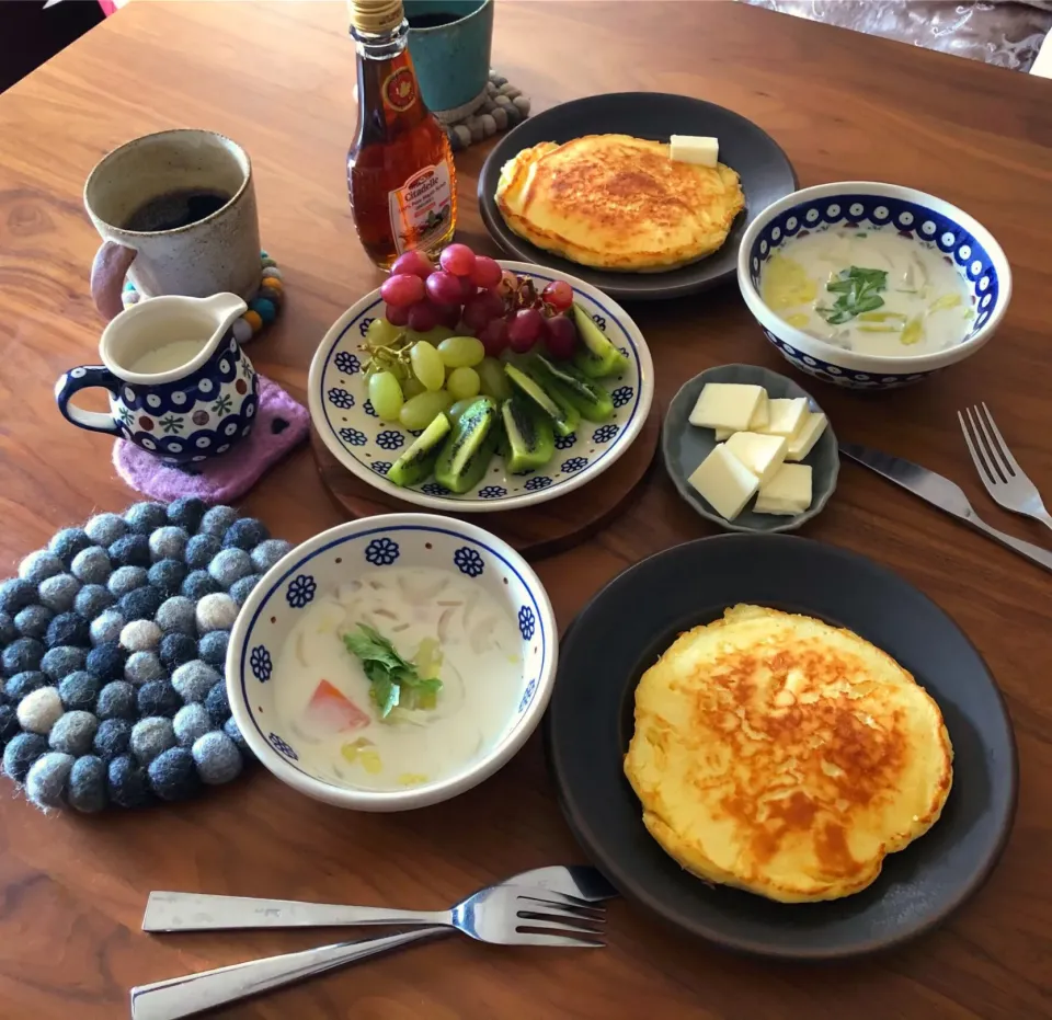
[[[171,229],[142,229],[137,221],[150,204],[190,193],[226,202]],[[91,296],[106,319],[121,313],[126,277],[145,297],[226,291],[248,299],[260,286],[252,164],[222,135],[179,129],[125,142],[91,171],[84,208],[103,239],[91,267]]]

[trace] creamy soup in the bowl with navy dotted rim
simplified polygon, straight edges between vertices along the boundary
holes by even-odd
[[[761,294],[790,325],[859,354],[942,351],[975,314],[942,253],[894,230],[833,228],[786,241],[764,264]]]

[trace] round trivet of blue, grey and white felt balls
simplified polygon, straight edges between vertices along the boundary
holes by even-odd
[[[239,608],[290,549],[196,498],[64,528],[0,582],[3,772],[42,810],[179,801],[249,750],[222,671]]]

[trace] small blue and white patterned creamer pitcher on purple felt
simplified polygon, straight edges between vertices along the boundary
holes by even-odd
[[[71,368],[55,383],[58,410],[169,463],[225,454],[252,431],[259,402],[255,370],[231,329],[247,307],[235,294],[133,305],[103,331],[103,364]],[[110,413],[70,403],[91,387],[108,391]]]

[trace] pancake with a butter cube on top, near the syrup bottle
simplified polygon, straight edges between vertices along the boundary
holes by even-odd
[[[586,135],[524,149],[501,171],[496,207],[519,237],[582,265],[664,272],[712,254],[744,208],[722,163],[668,158],[630,135]]]

